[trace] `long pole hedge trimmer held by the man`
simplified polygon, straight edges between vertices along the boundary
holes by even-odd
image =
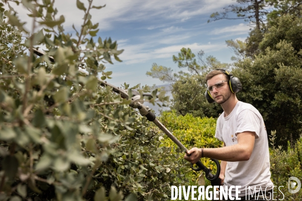
[[[32,49],[33,49],[33,52],[38,56],[45,55],[45,53],[40,50],[37,50],[35,48],[32,48]],[[51,62],[54,62],[53,57],[50,57],[50,56],[48,56],[48,57]],[[85,72],[83,70],[80,70],[80,71],[82,73],[88,74],[87,72]],[[98,80],[100,81],[101,85],[112,87],[112,90],[116,93],[119,93],[122,98],[125,98],[125,99],[130,98],[128,95],[128,92],[125,89],[116,87],[116,86],[108,83],[107,81],[103,81],[100,78],[98,78]],[[150,112],[150,109],[148,107],[143,105],[143,99],[141,98],[140,93],[136,90],[131,90],[131,92],[132,92],[132,97],[131,97],[131,103],[129,104],[129,106],[134,109],[138,109],[141,116],[146,117],[148,121],[153,122],[155,125],[157,125],[159,127],[159,129],[161,129],[182,151],[184,151],[187,154],[188,149],[156,118],[155,114]],[[149,93],[142,93],[142,95],[143,96],[152,96]],[[190,156],[190,155],[188,155],[188,156]],[[198,161],[197,163],[195,163],[197,165],[197,168],[194,168],[194,166],[193,166],[194,164],[191,163],[191,168],[195,171],[200,171],[200,170],[204,171],[205,177],[211,181],[211,185],[213,185],[213,186],[220,185],[220,182],[221,182],[221,179],[219,178],[220,164],[219,164],[218,160],[216,160],[216,159],[211,159],[211,160],[214,161],[214,163],[217,166],[217,171],[216,171],[215,175],[213,175],[211,173],[211,170],[208,169],[207,167],[205,167],[201,161]]]

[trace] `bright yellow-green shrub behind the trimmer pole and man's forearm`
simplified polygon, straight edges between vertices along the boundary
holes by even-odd
[[[177,116],[176,111],[165,111],[162,113],[160,120],[173,133],[173,135],[185,146],[187,149],[193,147],[215,148],[221,147],[223,143],[214,138],[216,120],[213,118],[193,117],[191,114],[185,116]],[[171,153],[178,157],[180,163],[184,163],[184,153],[179,153],[180,149],[165,136],[161,146],[171,147]],[[216,172],[216,165],[209,158],[202,158],[201,162],[208,168]],[[190,163],[185,161],[186,166],[181,170],[189,179],[187,185],[197,185],[197,180],[200,172],[195,172],[190,168]],[[206,181],[206,185],[210,182]]]

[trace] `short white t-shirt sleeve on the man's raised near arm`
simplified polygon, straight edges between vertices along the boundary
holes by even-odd
[[[245,131],[251,131],[256,133],[256,139],[260,135],[260,118],[251,110],[246,109],[240,112],[237,119],[237,131],[242,133]]]

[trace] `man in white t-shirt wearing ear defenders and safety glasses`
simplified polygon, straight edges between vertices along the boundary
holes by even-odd
[[[268,139],[261,114],[252,105],[237,99],[236,92],[242,87],[232,73],[222,69],[211,71],[206,75],[206,82],[208,101],[216,102],[223,109],[217,120],[215,138],[222,141],[224,146],[194,147],[188,151],[188,155],[191,155],[186,155],[185,159],[191,163],[196,163],[201,157],[221,160],[219,177],[221,184],[224,183],[223,187],[240,185],[239,197],[243,197],[242,200],[249,200],[249,194],[254,189],[259,192],[258,200],[266,200],[265,193],[266,198],[272,200]],[[232,196],[235,196],[235,192],[234,189]]]

